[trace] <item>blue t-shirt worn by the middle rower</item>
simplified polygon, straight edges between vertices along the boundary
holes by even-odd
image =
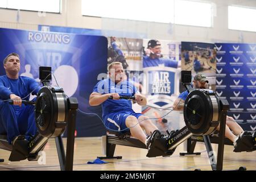
[[[134,96],[137,93],[137,88],[130,81],[122,81],[115,84],[109,78],[99,81],[93,88],[93,92],[100,94],[118,93],[120,96]],[[133,111],[131,101],[120,99],[108,99],[102,104],[102,117],[105,118],[110,113],[130,113]]]

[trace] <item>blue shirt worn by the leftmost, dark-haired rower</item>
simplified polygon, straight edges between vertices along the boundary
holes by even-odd
[[[34,91],[33,91],[34,90]],[[15,94],[24,100],[29,100],[30,93],[35,95],[40,90],[38,82],[33,78],[19,76],[18,79],[8,78],[6,75],[0,76],[0,100],[9,100],[10,94]],[[21,109],[19,106],[14,106],[15,110]]]

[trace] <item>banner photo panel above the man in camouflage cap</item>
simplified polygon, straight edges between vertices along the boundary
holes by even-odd
[[[191,71],[192,76],[203,73],[209,81],[208,88],[215,90],[216,54],[214,44],[181,42],[181,70]]]

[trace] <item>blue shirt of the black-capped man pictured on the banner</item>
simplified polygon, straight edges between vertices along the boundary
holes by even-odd
[[[178,61],[163,58],[151,59],[150,56],[143,56],[143,68],[158,67],[159,64],[163,64],[165,67],[177,68]]]

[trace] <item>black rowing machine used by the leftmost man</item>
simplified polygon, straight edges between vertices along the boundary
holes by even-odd
[[[10,161],[38,160],[38,154],[43,150],[48,139],[55,138],[61,170],[72,170],[78,102],[76,98],[68,98],[62,88],[49,86],[51,67],[40,67],[39,71],[39,78],[44,86],[39,90],[36,102],[22,101],[24,104],[35,105],[38,133],[30,141],[22,141],[27,148],[15,143],[12,146],[3,137],[0,140],[0,148],[11,151]],[[68,129],[67,155],[61,137],[66,128]]]

